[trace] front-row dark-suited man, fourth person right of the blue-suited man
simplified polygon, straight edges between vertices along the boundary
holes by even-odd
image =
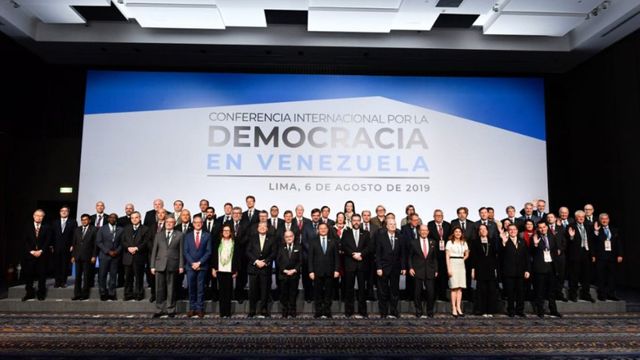
[[[331,318],[334,279],[340,276],[338,240],[331,237],[329,225],[318,224],[318,235],[308,241],[309,278],[313,280],[315,317]]]

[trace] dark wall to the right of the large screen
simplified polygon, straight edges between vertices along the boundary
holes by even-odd
[[[640,32],[546,84],[551,207],[609,213],[623,231],[621,281],[640,287]]]

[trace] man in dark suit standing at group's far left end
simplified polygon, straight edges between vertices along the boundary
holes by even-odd
[[[38,280],[38,300],[44,300],[47,295],[47,251],[51,245],[51,228],[44,224],[44,211],[38,209],[33,213],[33,223],[29,225],[24,235],[24,252],[22,260],[23,279],[25,281],[25,295],[22,301],[33,299],[36,293],[33,282]]]

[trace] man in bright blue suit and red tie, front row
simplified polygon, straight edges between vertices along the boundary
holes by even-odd
[[[187,317],[204,317],[205,277],[210,276],[211,235],[202,230],[202,218],[193,218],[193,231],[184,236],[184,266],[189,284],[189,311]]]

